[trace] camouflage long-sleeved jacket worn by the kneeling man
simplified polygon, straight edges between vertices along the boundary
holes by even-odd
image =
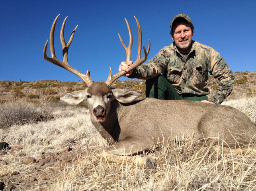
[[[174,86],[178,94],[207,95],[208,72],[219,80],[210,101],[221,104],[231,94],[235,76],[223,57],[213,48],[192,41],[186,59],[174,42],[162,48],[154,58],[134,69],[130,78],[150,79],[160,73]]]

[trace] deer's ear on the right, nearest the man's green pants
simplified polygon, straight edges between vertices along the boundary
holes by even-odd
[[[136,98],[142,95],[139,91],[131,91],[124,89],[113,89],[112,90],[115,99],[121,103],[132,103]]]

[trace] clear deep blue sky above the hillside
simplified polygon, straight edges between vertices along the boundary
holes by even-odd
[[[66,41],[78,25],[68,62],[82,73],[90,70],[94,81],[106,80],[109,67],[113,74],[117,73],[120,62],[125,61],[125,50],[118,38],[120,33],[128,44],[124,18],[129,21],[134,37],[131,59],[137,56],[137,26],[133,16],[141,24],[143,44],[147,47],[148,39],[151,41],[150,59],[172,43],[170,21],[178,13],[186,13],[192,19],[193,40],[213,47],[233,72],[256,71],[255,0],[0,0],[0,4],[0,80],[79,80],[43,58],[43,47],[58,14],[61,15],[55,29],[57,58],[62,59],[59,32],[68,16]],[[49,47],[47,53],[50,55]]]

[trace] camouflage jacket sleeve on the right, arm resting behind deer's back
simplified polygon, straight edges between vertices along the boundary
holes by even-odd
[[[235,76],[223,57],[214,49],[209,52],[209,59],[208,71],[219,80],[215,95],[210,101],[219,105],[231,94]]]

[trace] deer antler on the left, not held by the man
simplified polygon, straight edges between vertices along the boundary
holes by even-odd
[[[76,32],[76,29],[78,27],[78,25],[75,27],[74,31],[72,32],[70,39],[68,40],[68,43],[65,42],[64,39],[64,27],[65,27],[65,23],[66,23],[66,19],[67,17],[64,19],[63,24],[61,26],[61,34],[60,34],[60,38],[61,38],[61,44],[62,44],[62,52],[63,52],[63,61],[60,61],[59,59],[57,59],[56,55],[55,55],[55,49],[54,49],[54,31],[55,31],[55,25],[57,23],[57,20],[59,18],[59,15],[55,18],[55,20],[53,21],[53,25],[51,27],[51,32],[50,32],[50,51],[51,51],[51,57],[47,56],[47,46],[48,46],[48,40],[45,43],[45,47],[43,49],[43,57],[45,58],[45,60],[60,66],[64,69],[66,69],[67,71],[72,72],[73,74],[75,74],[76,76],[78,76],[79,78],[81,78],[82,80],[84,80],[84,82],[87,84],[87,86],[90,86],[92,84],[92,80],[91,80],[91,76],[90,76],[90,71],[88,70],[86,75],[79,72],[78,70],[72,68],[69,64],[68,64],[68,48],[74,38],[74,34]]]

